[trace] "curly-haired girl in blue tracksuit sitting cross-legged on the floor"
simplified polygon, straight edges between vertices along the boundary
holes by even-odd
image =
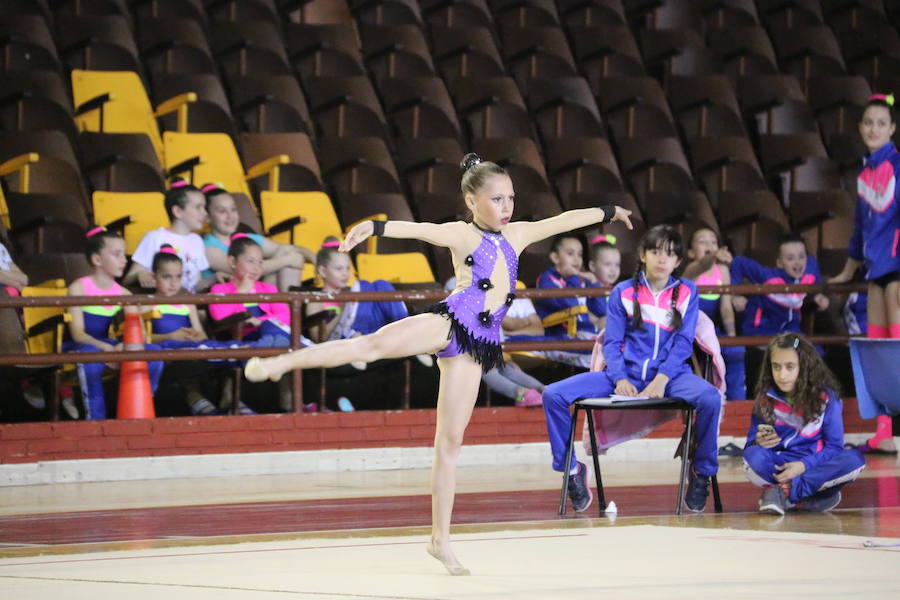
[[[766,348],[750,419],[744,470],[763,489],[759,510],[827,511],[865,466],[844,449],[842,404],[834,375],[801,335],[781,334]]]

